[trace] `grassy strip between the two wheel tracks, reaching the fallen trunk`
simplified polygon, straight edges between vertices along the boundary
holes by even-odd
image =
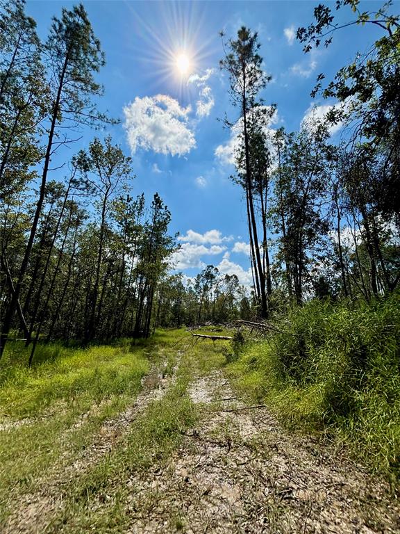
[[[182,330],[164,332],[163,336],[163,356],[181,359],[174,385],[163,398],[148,405],[107,458],[70,483],[65,490],[63,510],[53,519],[49,533],[124,532],[134,521],[135,507],[143,512],[157,505],[156,494],[152,496],[150,492],[147,501],[142,501],[142,495],[137,495],[135,483],[130,480],[148,478],[149,470],[165,468],[181,444],[185,430],[202,416],[201,407],[194,405],[188,396],[190,383],[224,364],[217,343],[201,340],[192,345]],[[184,526],[173,512],[166,519],[167,531]]]

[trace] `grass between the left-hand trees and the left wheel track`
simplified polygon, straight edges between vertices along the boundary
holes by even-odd
[[[0,521],[16,495],[90,446],[101,423],[132,403],[149,371],[148,350],[40,346],[28,369],[28,350],[12,343],[0,369]]]

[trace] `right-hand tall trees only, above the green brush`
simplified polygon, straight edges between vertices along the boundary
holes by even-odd
[[[338,104],[291,133],[271,128],[276,108],[260,98],[270,76],[257,33],[222,35],[220,64],[240,115],[226,120],[238,137],[233,179],[246,198],[254,300],[264,318],[313,296],[370,302],[399,286],[399,17],[390,3],[377,13],[361,13],[358,0],[338,2],[346,5],[354,17],[346,26],[378,27],[381,38],[326,88],[318,76],[313,96]],[[308,52],[328,46],[336,31],[346,30],[320,5],[297,39]]]

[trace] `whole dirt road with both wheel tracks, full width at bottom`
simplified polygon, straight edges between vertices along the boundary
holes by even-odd
[[[238,398],[219,368],[190,375],[190,362],[178,357],[172,373],[163,369],[153,369],[133,405],[106,421],[90,448],[53,466],[17,503],[5,533],[400,533],[387,483],[332,444],[283,430],[267,407]],[[142,438],[126,441],[129,432],[157,410],[167,417],[180,398],[196,422],[171,430],[172,417],[158,436],[176,447],[159,447],[142,462],[160,439],[150,431],[134,460],[140,444],[133,441]]]

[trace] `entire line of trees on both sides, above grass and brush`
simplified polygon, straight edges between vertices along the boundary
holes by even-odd
[[[207,266],[189,283],[170,275],[170,213],[133,194],[131,159],[110,136],[72,149],[115,120],[98,109],[103,51],[82,5],[53,18],[41,42],[24,0],[0,0],[0,355],[8,339],[147,337],[160,326],[267,318],[313,296],[371,302],[400,281],[400,29],[390,4],[351,24],[381,31],[313,95],[335,98],[301,129],[272,129],[260,98],[258,35],[225,41],[240,118],[235,181],[247,205],[251,295]],[[347,26],[348,26],[347,25]],[[297,31],[306,52],[329,45],[330,8]],[[320,111],[320,110],[319,110]],[[321,113],[316,113],[321,117]],[[332,133],[342,127],[339,141]],[[74,154],[74,156],[71,156]]]

